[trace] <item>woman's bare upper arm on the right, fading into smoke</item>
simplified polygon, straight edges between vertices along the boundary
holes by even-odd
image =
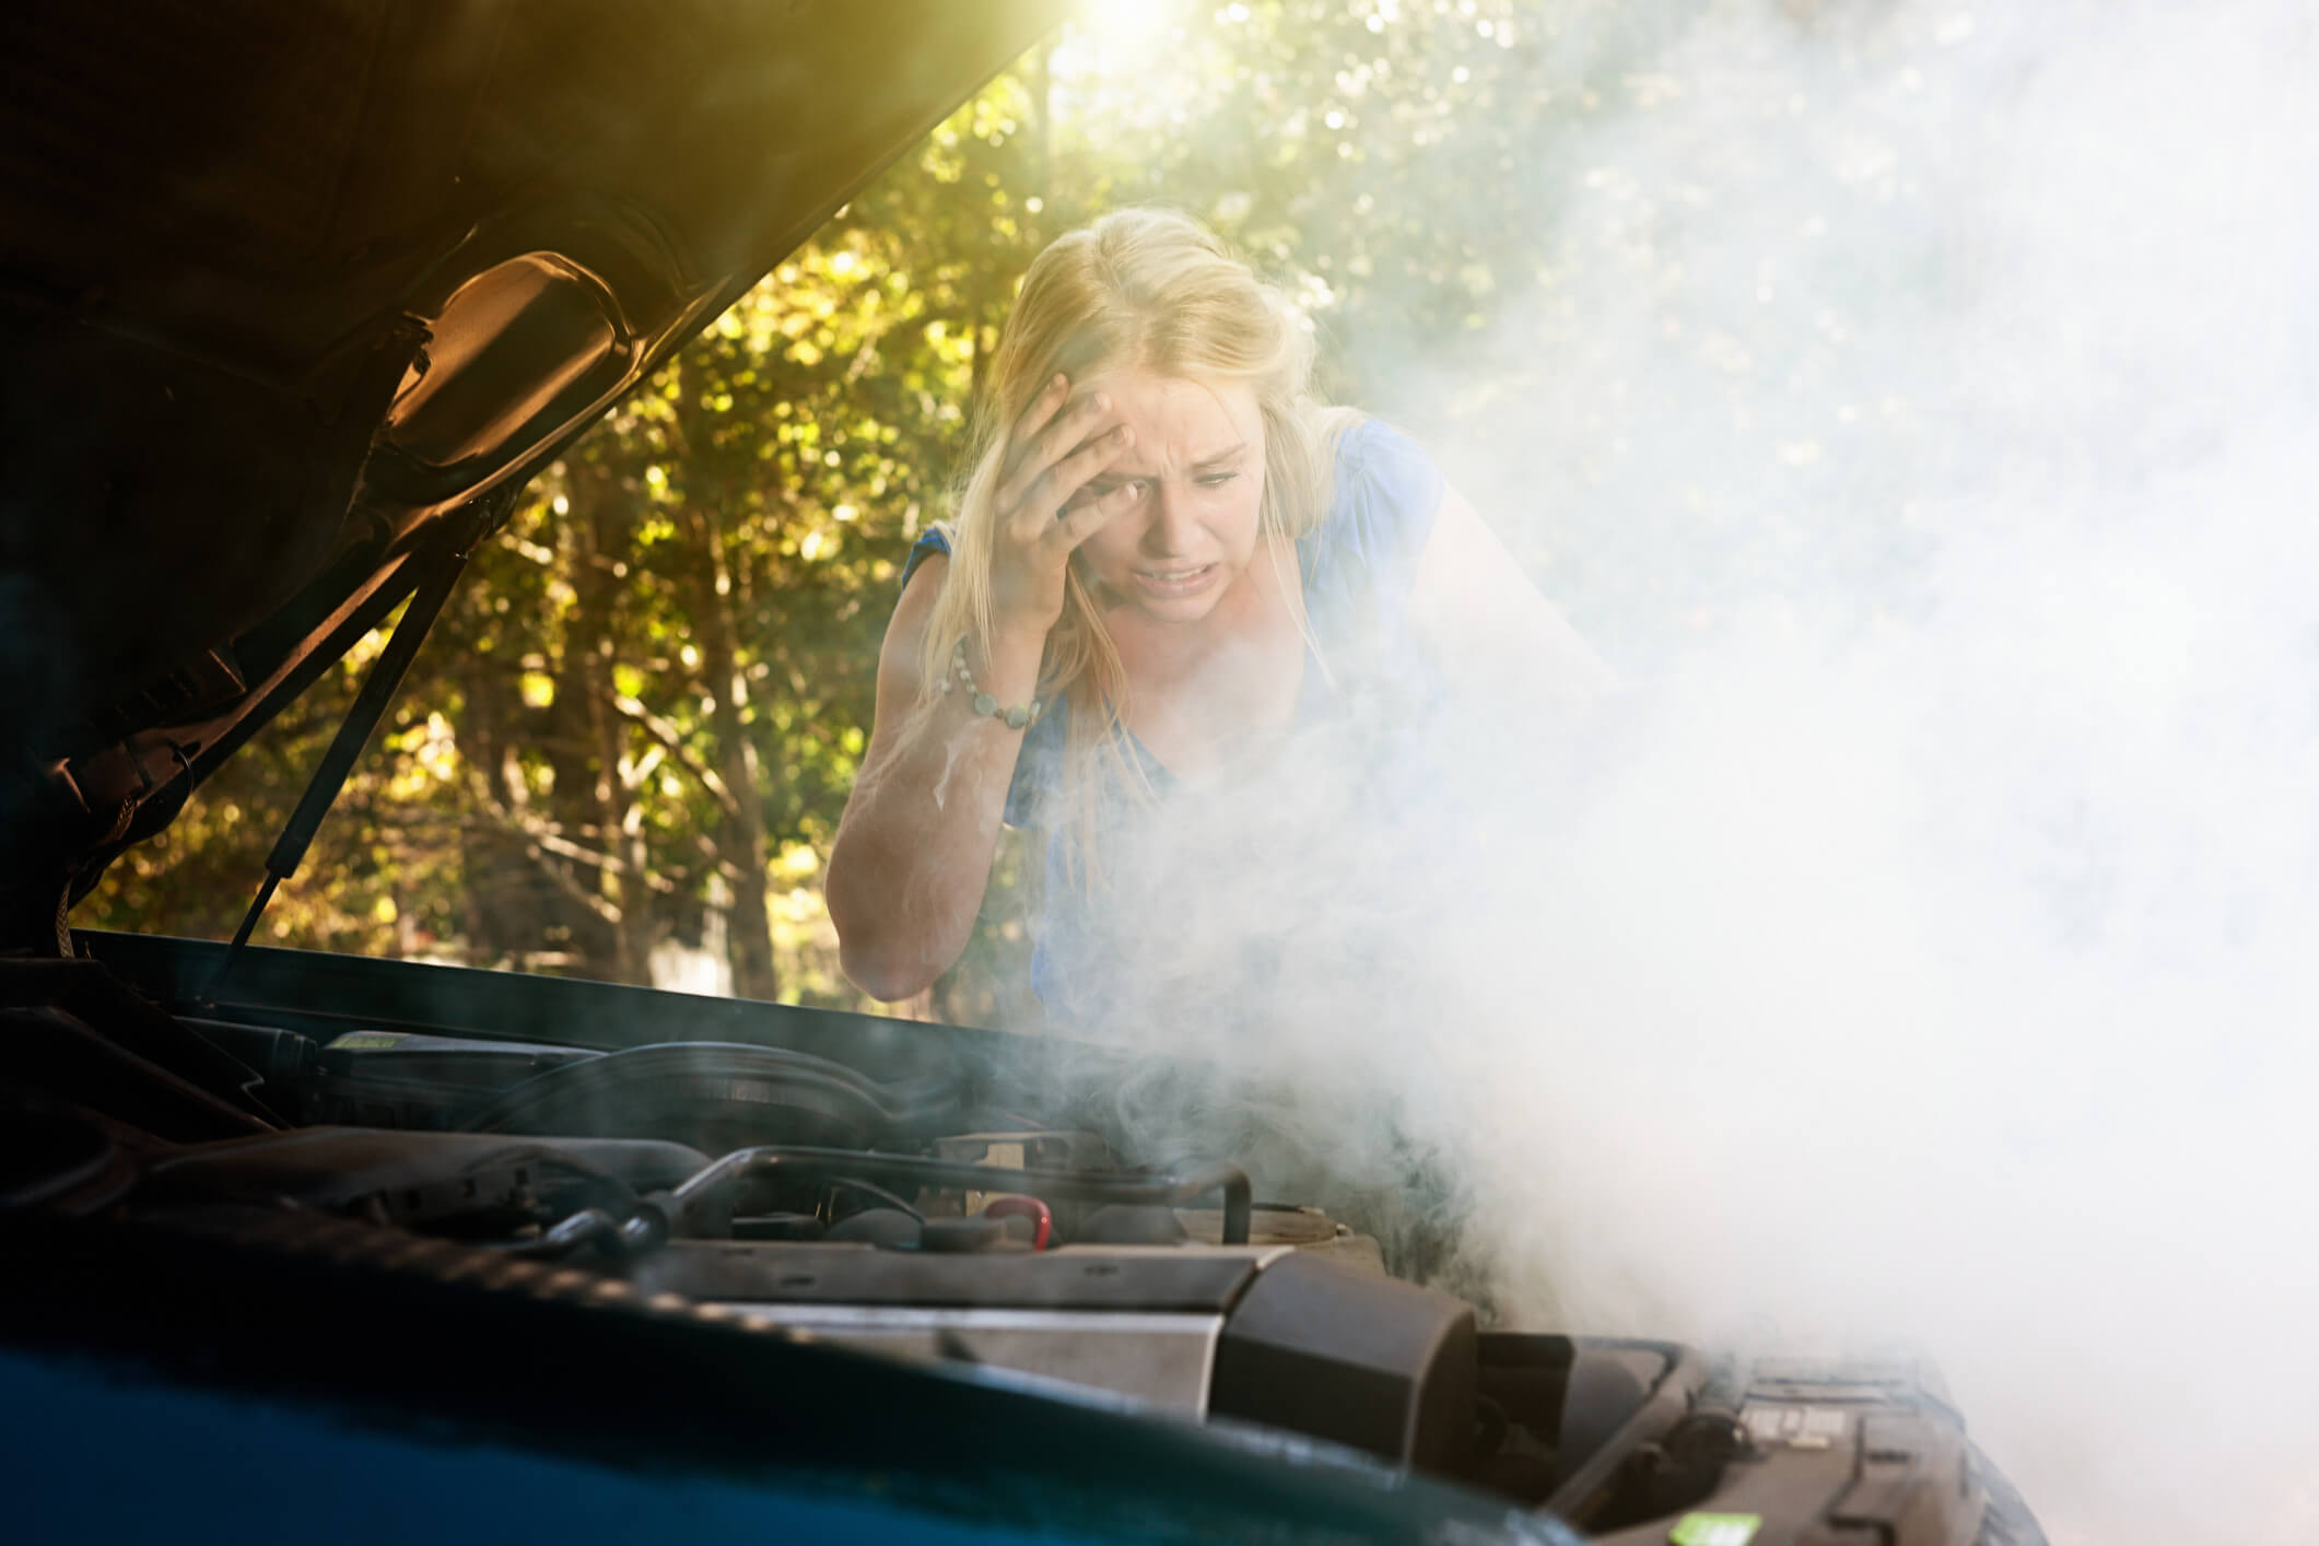
[[[1466,496],[1442,487],[1410,582],[1410,626],[1452,688],[1505,707],[1582,709],[1616,686]]]

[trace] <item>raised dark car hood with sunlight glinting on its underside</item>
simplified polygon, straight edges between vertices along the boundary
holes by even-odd
[[[0,16],[0,950],[1064,0]]]

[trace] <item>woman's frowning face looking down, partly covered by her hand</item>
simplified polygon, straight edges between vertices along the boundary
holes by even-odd
[[[1127,508],[1078,547],[1113,605],[1157,623],[1197,623],[1238,584],[1257,554],[1264,505],[1264,415],[1245,382],[1104,371],[1081,392],[1106,392],[1134,431],[1078,498],[1125,489]]]

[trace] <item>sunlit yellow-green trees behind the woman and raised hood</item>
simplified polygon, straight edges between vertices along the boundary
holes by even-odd
[[[1851,25],[1769,9],[1797,30]],[[1533,345],[1589,274],[1679,318],[1684,276],[1653,255],[1656,225],[1711,202],[1716,176],[1744,192],[1758,174],[1716,146],[1674,190],[1584,165],[1589,125],[1681,90],[1656,60],[1698,12],[1088,7],[531,484],[260,941],[865,1006],[837,971],[821,867],[902,556],[944,510],[1030,257],[1120,204],[1190,209],[1310,313],[1331,396],[1470,443],[1535,401]],[[1862,35],[1867,56],[1890,42]],[[1735,413],[1749,389],[1776,396],[1732,369],[1735,350],[1776,341],[1700,348]],[[1663,512],[1619,505],[1614,464],[1649,454],[1621,392],[1586,399],[1570,429],[1584,454],[1556,489],[1572,519],[1514,519],[1507,538],[1582,626],[1646,651],[1651,628],[1695,626],[1711,598],[1665,596],[1633,556],[1630,522]],[[74,923],[230,934],[380,644],[116,862]],[[1034,860],[1020,839],[1002,848],[974,946],[902,1013],[1037,1022]]]

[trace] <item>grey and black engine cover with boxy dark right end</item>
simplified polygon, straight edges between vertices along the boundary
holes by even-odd
[[[865,1351],[1067,1379],[1433,1472],[1473,1442],[1473,1310],[1326,1252],[675,1242],[633,1282]]]

